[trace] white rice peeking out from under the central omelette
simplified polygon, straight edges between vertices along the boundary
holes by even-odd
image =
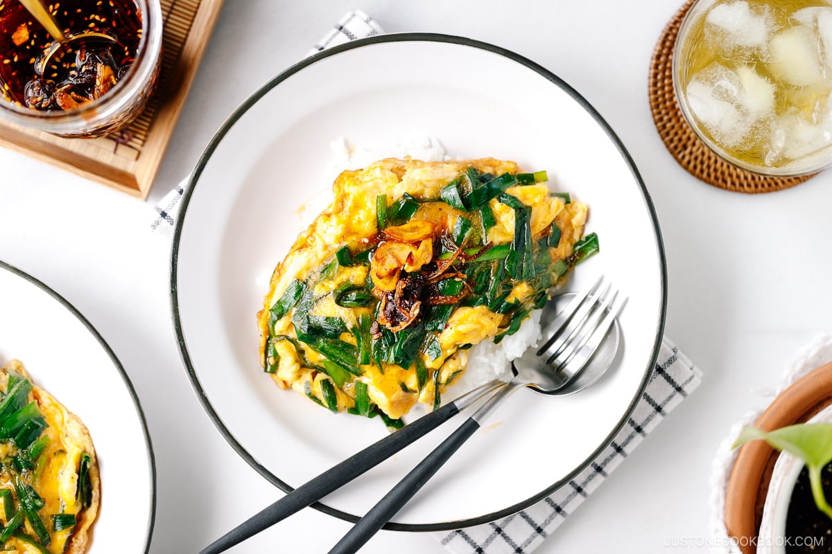
[[[340,173],[344,169],[364,168],[374,161],[384,158],[404,158],[423,161],[445,161],[453,159],[436,137],[425,136],[409,140],[402,144],[386,145],[380,148],[368,148],[351,145],[349,140],[339,137],[333,140],[330,148],[334,154],[333,169]],[[529,348],[537,346],[541,337],[541,310],[533,311],[520,329],[495,345],[493,341],[482,341],[468,350],[468,365],[463,375],[449,386],[443,395],[443,403],[484,385],[501,375],[508,376],[509,364],[523,355]]]

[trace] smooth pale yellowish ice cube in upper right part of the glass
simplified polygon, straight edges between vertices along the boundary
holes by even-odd
[[[799,25],[775,34],[769,42],[771,74],[794,86],[820,81],[822,67],[817,39],[810,27]]]

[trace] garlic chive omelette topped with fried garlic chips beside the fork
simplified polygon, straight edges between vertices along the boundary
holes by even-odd
[[[468,349],[498,343],[577,262],[586,205],[511,161],[383,159],[334,199],[271,277],[258,313],[265,371],[334,412],[390,426],[435,409]]]

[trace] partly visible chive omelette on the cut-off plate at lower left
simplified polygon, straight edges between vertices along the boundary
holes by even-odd
[[[5,391],[0,409],[12,376],[31,383],[22,363],[9,361],[0,370],[0,389]],[[37,407],[32,419],[42,418],[45,426],[23,448],[19,434],[0,443],[0,493],[8,491],[0,500],[0,522],[7,530],[0,532],[5,538],[2,550],[82,554],[100,496],[92,439],[82,421],[40,387],[31,385],[24,402]],[[8,537],[3,537],[6,532]]]

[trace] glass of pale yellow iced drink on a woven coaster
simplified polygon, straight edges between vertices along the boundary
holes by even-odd
[[[697,0],[673,84],[716,154],[758,174],[832,164],[832,6],[826,0]]]

